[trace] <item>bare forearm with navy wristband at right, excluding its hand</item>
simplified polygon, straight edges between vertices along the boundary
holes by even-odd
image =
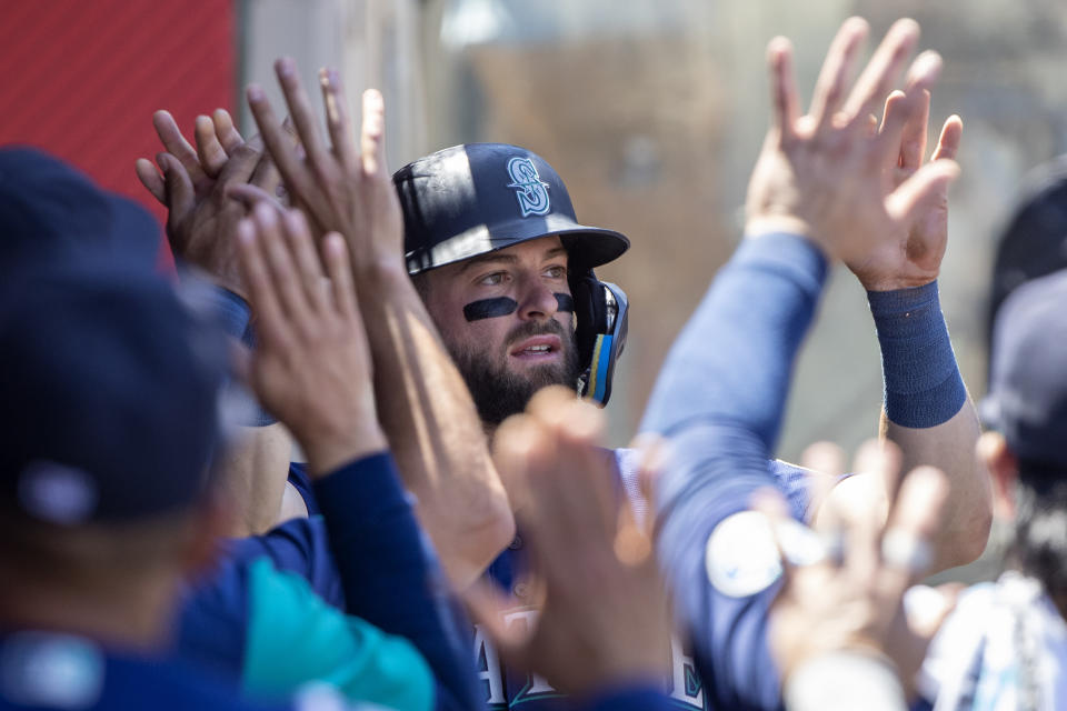
[[[900,447],[901,471],[931,465],[948,477],[935,569],[970,562],[989,534],[991,491],[975,449],[978,417],[953,353],[937,283],[871,292],[868,300],[882,357],[881,433]]]

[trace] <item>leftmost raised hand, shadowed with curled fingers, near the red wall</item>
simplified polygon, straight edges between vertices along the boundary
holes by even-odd
[[[162,176],[143,158],[136,169],[144,188],[167,206],[167,237],[174,256],[246,296],[233,240],[247,208],[233,199],[233,189],[251,186],[271,196],[279,183],[278,171],[258,141],[241,138],[222,109],[210,119],[197,118],[196,149],[167,111],[157,111],[152,122],[166,149],[156,157]]]

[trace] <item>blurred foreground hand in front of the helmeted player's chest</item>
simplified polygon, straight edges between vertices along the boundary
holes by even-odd
[[[598,449],[604,413],[548,388],[496,435],[501,469],[523,481],[521,510],[544,604],[530,629],[501,612],[523,604],[486,587],[466,594],[503,659],[568,693],[620,682],[658,683],[669,658],[670,614],[651,542],[611,488]],[[621,507],[620,507],[621,503]]]

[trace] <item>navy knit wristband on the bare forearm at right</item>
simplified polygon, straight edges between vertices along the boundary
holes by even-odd
[[[868,291],[881,347],[886,417],[903,427],[950,420],[967,401],[941,314],[937,281],[913,289]]]

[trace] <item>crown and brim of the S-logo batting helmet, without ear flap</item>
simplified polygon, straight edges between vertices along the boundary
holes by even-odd
[[[559,174],[517,146],[453,146],[408,163],[392,180],[411,274],[554,234],[571,272],[581,273],[630,246],[615,230],[579,223]]]

